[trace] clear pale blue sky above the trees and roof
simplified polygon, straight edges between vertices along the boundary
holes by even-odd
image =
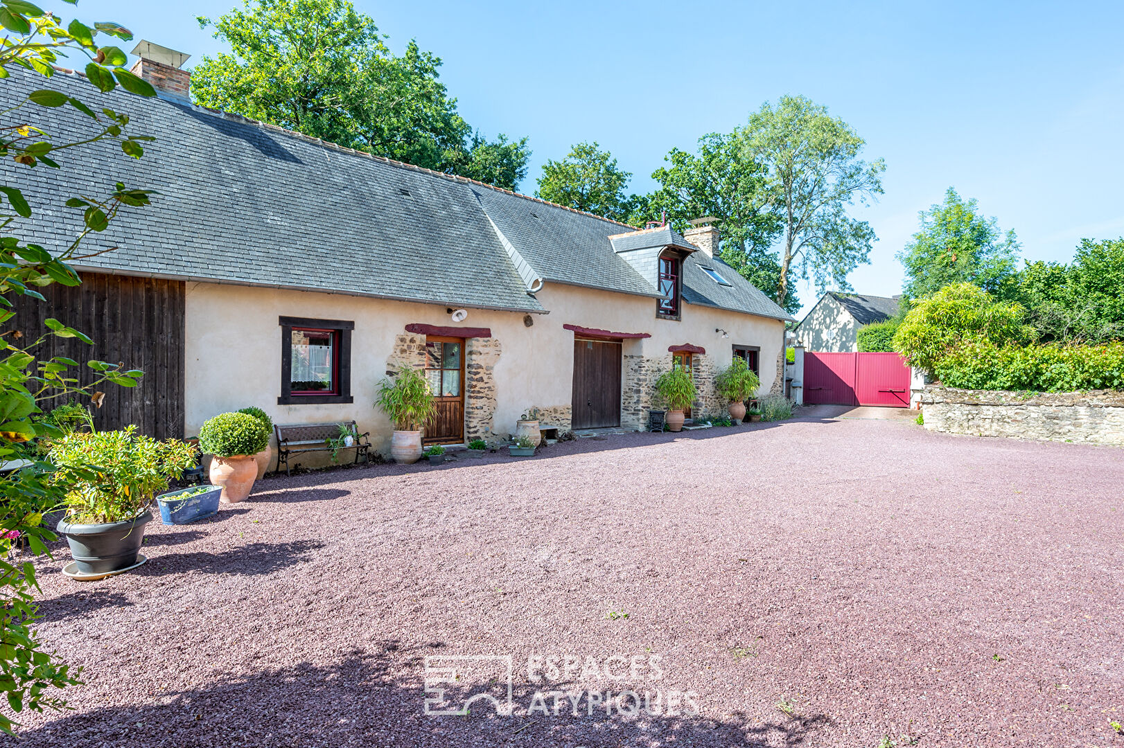
[[[241,0],[239,0],[241,1]],[[236,0],[45,0],[200,56],[221,45],[196,16]],[[1124,6],[1112,2],[375,2],[389,45],[414,37],[487,135],[527,135],[520,185],[597,140],[634,174],[671,147],[729,131],[785,93],[827,106],[887,162],[886,194],[856,210],[879,241],[856,291],[901,285],[895,253],[917,211],[955,186],[1013,228],[1028,259],[1068,261],[1082,237],[1124,235]],[[57,6],[57,7],[56,7]],[[814,291],[801,285],[807,310]]]

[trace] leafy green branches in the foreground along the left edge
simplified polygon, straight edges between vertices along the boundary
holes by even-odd
[[[121,67],[127,57],[120,48],[96,42],[102,34],[130,39],[129,31],[117,24],[87,26],[75,19],[64,26],[58,18],[30,2],[0,0],[0,25],[7,29],[0,46],[0,79],[9,79],[10,69],[16,67],[51,79],[58,56],[82,54],[90,60],[84,80],[96,89],[109,92],[120,85],[133,93],[155,95],[148,83]],[[40,108],[60,107],[73,108],[88,118],[88,130],[66,133],[62,137],[51,133],[39,121]],[[9,95],[0,118],[0,156],[19,164],[17,170],[22,166],[58,168],[57,159],[69,155],[71,148],[101,140],[115,140],[126,155],[139,158],[144,154],[142,143],[152,139],[127,134],[128,116],[108,108],[96,112],[79,99],[54,89],[38,89],[20,100]],[[83,166],[91,167],[88,163]],[[82,240],[91,232],[103,231],[123,208],[148,204],[151,194],[117,183],[103,198],[84,195],[65,200],[67,208],[82,211],[84,227],[61,253],[52,255],[45,247],[19,236],[24,234],[24,221],[31,219],[35,212],[19,188],[27,181],[20,173],[9,170],[6,184],[0,186],[0,231],[3,232],[0,236],[0,326],[15,313],[11,297],[27,295],[44,301],[36,288],[51,283],[78,285],[79,275],[67,262],[90,256],[80,254]],[[58,202],[63,202],[63,197],[52,195]],[[52,204],[38,222],[49,224],[49,216],[56,210]],[[49,419],[40,418],[39,404],[67,394],[94,395],[94,389],[105,382],[136,386],[142,375],[142,372],[121,371],[105,362],[88,362],[88,366],[100,374],[89,385],[78,386],[71,372],[78,362],[62,357],[38,359],[34,352],[49,336],[79,338],[85,343],[90,339],[57,319],[49,318],[45,322],[49,331],[37,340],[24,340],[18,331],[0,327],[0,349],[3,352],[0,460],[28,460],[25,467],[0,480],[0,690],[10,709],[8,713],[0,712],[0,730],[8,733],[12,733],[16,724],[11,713],[19,714],[25,709],[62,709],[64,701],[53,695],[52,690],[78,682],[76,673],[55,655],[43,650],[33,629],[38,618],[35,592],[39,589],[35,566],[29,560],[20,563],[13,556],[17,541],[26,542],[35,555],[48,553],[45,541],[54,540],[55,535],[43,526],[43,517],[58,508],[65,494],[63,486],[51,481],[54,466],[42,459],[43,450],[35,444],[37,439],[62,436]]]

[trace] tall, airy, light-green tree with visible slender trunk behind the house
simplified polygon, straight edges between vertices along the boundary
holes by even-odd
[[[865,140],[827,108],[804,97],[781,97],[750,115],[741,133],[743,158],[768,170],[771,206],[783,227],[777,302],[785,305],[791,274],[850,290],[846,275],[868,262],[877,240],[867,221],[847,215],[855,201],[882,193],[879,158],[859,158]]]

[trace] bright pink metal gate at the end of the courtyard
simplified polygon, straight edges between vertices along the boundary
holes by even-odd
[[[896,353],[807,353],[804,402],[909,407],[909,367]]]

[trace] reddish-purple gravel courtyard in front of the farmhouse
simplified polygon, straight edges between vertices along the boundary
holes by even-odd
[[[266,478],[120,577],[56,546],[85,684],[19,745],[1124,747],[1122,486],[1118,449],[817,418]],[[514,713],[427,715],[453,655],[510,656]]]

